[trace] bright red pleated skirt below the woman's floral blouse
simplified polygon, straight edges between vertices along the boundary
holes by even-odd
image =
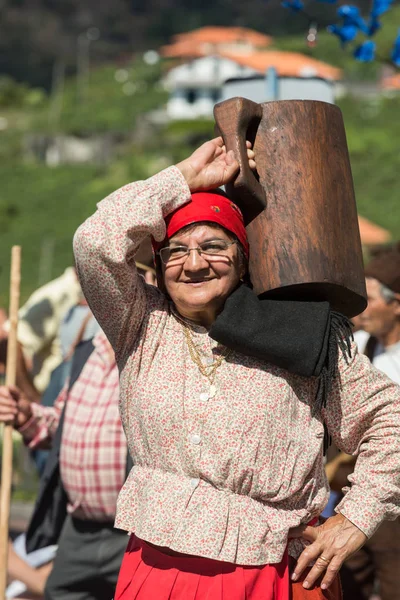
[[[169,556],[132,535],[115,600],[289,600],[288,557],[256,567]]]

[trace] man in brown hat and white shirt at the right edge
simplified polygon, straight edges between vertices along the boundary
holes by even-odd
[[[381,251],[365,269],[368,306],[357,318],[355,339],[372,364],[400,384],[400,245]],[[360,335],[361,334],[361,335]],[[331,476],[340,490],[353,472],[353,457],[341,454]],[[334,461],[330,468],[333,470]],[[329,467],[329,465],[328,465]],[[329,475],[329,472],[328,472]],[[345,600],[368,600],[379,582],[382,600],[400,600],[400,521],[383,522],[342,568]]]

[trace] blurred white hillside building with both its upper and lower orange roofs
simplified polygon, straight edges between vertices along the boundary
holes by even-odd
[[[309,99],[333,102],[341,70],[296,52],[271,50],[272,38],[242,28],[205,27],[160,49],[173,66],[163,83],[170,119],[212,118],[217,102]],[[179,64],[178,64],[179,63]]]

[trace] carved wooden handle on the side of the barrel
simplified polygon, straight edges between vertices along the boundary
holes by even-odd
[[[241,209],[246,225],[267,206],[258,175],[249,167],[246,147],[246,140],[254,145],[262,114],[261,104],[246,98],[230,98],[214,107],[216,134],[222,136],[227,151],[233,150],[240,166],[236,179],[225,186],[226,191]]]

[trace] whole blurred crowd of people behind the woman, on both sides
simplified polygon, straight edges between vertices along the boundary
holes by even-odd
[[[149,249],[139,258],[139,272],[156,285]],[[365,275],[368,307],[353,319],[354,337],[400,384],[400,243],[372,253]],[[0,376],[8,327],[0,309]],[[1,398],[1,418],[14,422],[41,479],[28,531],[10,539],[7,598],[110,599],[128,541],[113,519],[130,458],[115,357],[73,266],[20,309],[18,341],[17,385]],[[324,516],[333,514],[353,465],[352,456],[330,447]],[[345,600],[399,598],[399,560],[399,522],[385,522],[342,569]]]

